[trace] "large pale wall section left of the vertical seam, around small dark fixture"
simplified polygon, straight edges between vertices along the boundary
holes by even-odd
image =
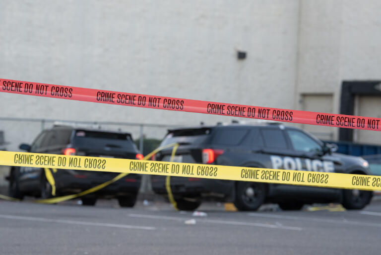
[[[298,0],[12,1],[0,77],[293,107]],[[236,51],[248,58],[237,60]],[[282,89],[280,89],[282,88]],[[194,125],[231,118],[1,94],[2,116]],[[30,137],[0,124],[7,140]],[[5,127],[5,128],[4,128]],[[161,137],[163,133],[153,134]]]

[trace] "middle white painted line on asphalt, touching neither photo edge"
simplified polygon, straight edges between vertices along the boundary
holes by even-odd
[[[130,214],[128,214],[128,216],[129,217],[137,217],[137,218],[157,219],[157,220],[175,220],[175,221],[187,220],[187,218],[182,218],[182,217],[170,217],[170,216],[135,214],[135,213],[130,213]],[[271,229],[287,229],[287,230],[299,230],[299,231],[302,230],[302,228],[299,228],[299,227],[283,226],[282,224],[273,225],[273,224],[263,224],[263,223],[253,223],[253,222],[211,220],[211,219],[199,219],[199,218],[197,218],[196,221],[199,221],[202,223],[263,227],[263,228],[271,228]]]

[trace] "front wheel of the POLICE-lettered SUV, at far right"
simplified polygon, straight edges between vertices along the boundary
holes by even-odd
[[[344,189],[343,190],[343,206],[349,210],[363,209],[372,198],[372,191],[358,190],[358,189]]]

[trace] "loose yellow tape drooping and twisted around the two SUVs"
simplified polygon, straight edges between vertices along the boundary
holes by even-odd
[[[167,148],[171,148],[171,147],[173,147],[172,157],[171,157],[171,161],[172,161],[173,157],[176,154],[176,150],[179,147],[179,144],[169,144],[169,145],[166,145],[166,146],[159,147],[159,148],[153,150],[152,152],[150,152],[148,155],[146,155],[143,158],[143,160],[148,160],[148,159],[150,159],[152,157],[152,155],[155,155],[159,151],[167,149]],[[31,154],[31,153],[27,153],[27,154]],[[32,154],[36,154],[36,153],[32,153]],[[38,154],[36,154],[36,155],[38,155]],[[59,156],[59,155],[55,155],[55,156]],[[0,152],[0,165],[3,165],[2,164],[2,159],[3,159],[3,157],[2,157],[1,152]],[[9,166],[11,166],[11,165],[9,165]],[[52,168],[52,170],[54,172],[57,172],[56,168]],[[76,170],[79,170],[79,169],[76,169]],[[56,195],[56,181],[55,181],[55,179],[53,177],[53,174],[52,174],[52,172],[51,172],[51,170],[49,168],[44,168],[44,171],[45,171],[45,176],[46,176],[48,182],[52,186],[52,195],[55,196]],[[96,192],[96,191],[98,191],[98,190],[100,190],[100,189],[102,189],[102,188],[104,188],[104,187],[106,187],[106,186],[116,182],[117,180],[125,177],[127,174],[129,174],[129,173],[128,172],[122,172],[122,173],[118,174],[117,176],[115,176],[114,178],[112,178],[109,181],[106,181],[106,182],[104,182],[102,184],[99,184],[97,186],[94,186],[92,188],[84,190],[84,191],[79,192],[77,194],[71,194],[71,195],[60,196],[60,197],[53,197],[53,198],[47,198],[47,199],[37,199],[37,200],[34,200],[34,201],[37,202],[37,203],[55,204],[55,203],[63,202],[63,201],[66,201],[66,200],[78,198],[78,197],[81,197],[81,196],[88,195],[90,193]],[[170,179],[169,178],[168,178],[167,182],[168,182],[168,186],[166,186],[166,188],[167,188],[169,200],[173,204],[174,208],[177,209],[176,202],[175,202],[175,200],[173,198],[173,195],[172,195],[171,186],[169,184],[170,183]],[[5,195],[1,195],[1,194],[0,194],[0,199],[9,200],[9,201],[20,201],[20,199],[18,199],[18,198],[14,198],[14,197],[10,197],[10,196],[5,196]]]

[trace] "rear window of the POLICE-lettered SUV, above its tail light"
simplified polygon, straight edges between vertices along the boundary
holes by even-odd
[[[211,128],[169,130],[160,146],[179,143],[183,145],[203,144],[210,137]]]

